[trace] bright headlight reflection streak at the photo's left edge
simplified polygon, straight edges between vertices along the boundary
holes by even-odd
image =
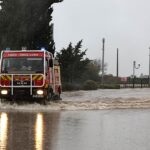
[[[7,113],[0,115],[0,150],[7,148],[8,116]]]

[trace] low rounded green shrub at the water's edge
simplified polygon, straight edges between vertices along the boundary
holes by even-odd
[[[84,82],[83,89],[84,90],[97,90],[98,86],[97,86],[97,83],[95,81],[87,80]]]

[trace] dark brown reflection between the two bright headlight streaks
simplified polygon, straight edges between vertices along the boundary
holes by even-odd
[[[34,113],[8,112],[8,144],[10,150],[34,150]]]

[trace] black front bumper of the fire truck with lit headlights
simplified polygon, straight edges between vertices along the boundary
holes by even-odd
[[[12,91],[13,90],[13,91]],[[30,88],[1,88],[0,89],[0,98],[6,99],[41,99],[46,95],[46,90],[42,88],[33,88],[32,92]]]

